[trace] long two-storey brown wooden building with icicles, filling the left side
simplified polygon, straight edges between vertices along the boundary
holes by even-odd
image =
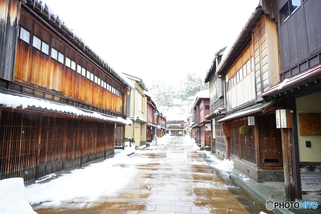
[[[114,155],[134,87],[38,1],[0,1],[0,179]]]

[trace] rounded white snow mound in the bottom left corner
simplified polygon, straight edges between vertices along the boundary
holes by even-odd
[[[25,197],[23,178],[9,178],[0,181],[1,214],[36,214]]]

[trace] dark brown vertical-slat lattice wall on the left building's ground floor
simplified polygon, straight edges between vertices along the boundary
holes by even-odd
[[[0,109],[0,180],[30,181],[113,155],[114,130],[115,124]]]

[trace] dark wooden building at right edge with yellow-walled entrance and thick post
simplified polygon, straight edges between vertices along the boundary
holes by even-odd
[[[276,0],[281,82],[261,96],[282,99],[288,200],[321,202],[321,1]]]

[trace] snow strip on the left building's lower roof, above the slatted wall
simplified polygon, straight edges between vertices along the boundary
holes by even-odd
[[[126,125],[132,124],[132,121],[125,120],[121,117],[104,116],[97,112],[92,112],[89,110],[82,111],[81,109],[78,109],[76,107],[63,105],[63,104],[56,104],[49,101],[40,100],[36,98],[31,98],[31,97],[14,96],[11,94],[0,93],[0,104],[4,105],[5,107],[12,107],[12,108],[17,108],[19,106],[21,106],[22,108],[36,107],[36,108],[42,108],[42,109],[47,109],[52,111],[61,111],[61,112],[73,114],[76,116],[93,117],[93,118],[98,118],[98,119],[111,121],[115,123],[122,123]]]

